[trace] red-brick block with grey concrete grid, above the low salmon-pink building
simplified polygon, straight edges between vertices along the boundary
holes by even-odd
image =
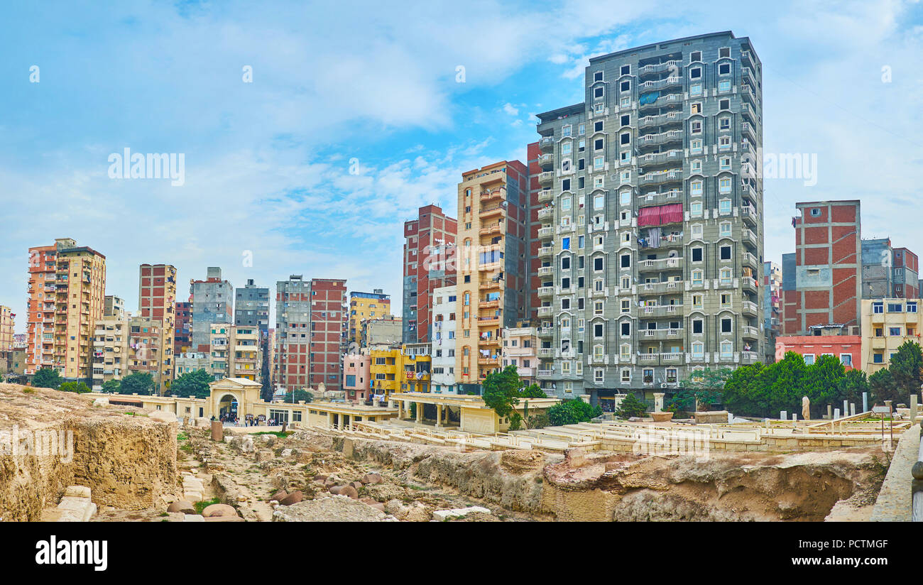
[[[792,218],[794,265],[787,270],[783,267],[783,332],[807,335],[812,326],[837,324],[843,326],[844,334],[857,335],[862,301],[859,201],[811,201],[795,206],[800,215]]]

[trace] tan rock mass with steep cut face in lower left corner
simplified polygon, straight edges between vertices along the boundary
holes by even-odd
[[[75,484],[89,487],[99,507],[141,509],[175,499],[176,423],[146,414],[0,384],[0,518],[38,520]]]

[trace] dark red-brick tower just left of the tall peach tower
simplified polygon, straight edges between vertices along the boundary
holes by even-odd
[[[436,205],[417,209],[415,220],[404,221],[402,339],[430,340],[433,291],[455,283],[455,242],[458,222]]]

